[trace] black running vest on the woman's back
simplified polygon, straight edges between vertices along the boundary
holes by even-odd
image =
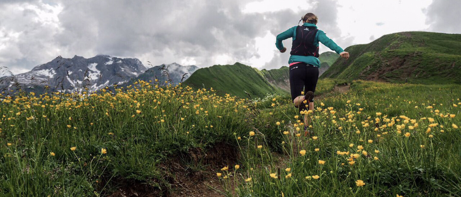
[[[296,39],[291,46],[291,55],[319,57],[319,47],[314,46],[315,35],[319,29],[315,27],[296,27]]]

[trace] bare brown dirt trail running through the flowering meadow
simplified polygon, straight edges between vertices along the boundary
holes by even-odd
[[[326,98],[337,93],[346,93],[350,89],[350,84],[335,85],[333,90],[315,97],[316,99]],[[287,155],[272,153],[275,160],[275,168],[284,168],[290,157]],[[171,194],[171,197],[225,197],[216,190],[224,191],[216,174],[206,173],[202,180],[183,180],[178,184],[176,190]],[[181,188],[182,187],[182,188]]]

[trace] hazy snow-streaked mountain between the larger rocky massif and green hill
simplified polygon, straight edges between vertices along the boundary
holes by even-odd
[[[137,77],[131,79],[124,85],[132,85],[134,81],[142,80],[142,81],[154,81],[156,78],[159,81],[167,81],[168,78],[171,80],[171,83],[178,84],[181,81],[185,81],[189,78],[195,70],[199,68],[195,65],[190,66],[182,66],[180,64],[172,63],[172,64],[161,64],[158,66],[154,66],[144,73],[138,75]],[[186,74],[187,75],[184,75]],[[168,75],[168,76],[167,76]],[[184,77],[184,78],[183,78]]]

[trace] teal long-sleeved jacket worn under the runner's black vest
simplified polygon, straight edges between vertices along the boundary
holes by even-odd
[[[302,26],[306,27],[315,27],[317,28],[316,25],[312,23],[304,23]],[[278,50],[282,50],[284,48],[284,45],[282,44],[283,40],[286,40],[288,38],[293,38],[293,41],[296,39],[296,27],[294,26],[281,34],[277,35],[277,40],[275,42],[275,46],[277,46]],[[334,41],[332,41],[330,38],[328,38],[325,35],[325,32],[322,30],[318,30],[317,34],[315,35],[314,38],[314,46],[319,46],[319,42],[330,48],[331,50],[337,52],[338,54],[343,52],[344,50],[339,47]],[[287,49],[288,51],[288,49]],[[290,60],[288,61],[288,64],[291,64],[293,62],[304,62],[306,64],[312,64],[314,66],[317,66],[320,68],[320,60],[319,58],[313,57],[313,56],[300,56],[300,55],[292,55],[290,56]]]

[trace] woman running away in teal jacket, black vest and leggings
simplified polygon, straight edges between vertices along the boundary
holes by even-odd
[[[302,26],[292,27],[277,35],[277,46],[280,52],[285,52],[286,47],[282,44],[283,40],[293,38],[291,46],[290,64],[290,90],[291,99],[299,111],[309,110],[314,107],[313,97],[317,80],[319,79],[319,42],[337,52],[341,57],[348,59],[349,52],[345,52],[341,47],[328,38],[322,30],[317,29],[318,17],[313,13],[307,13],[301,18]],[[301,22],[301,20],[299,20]],[[301,92],[304,89],[305,96]],[[301,113],[305,114],[305,113]],[[304,116],[304,122],[308,125],[308,119]]]

